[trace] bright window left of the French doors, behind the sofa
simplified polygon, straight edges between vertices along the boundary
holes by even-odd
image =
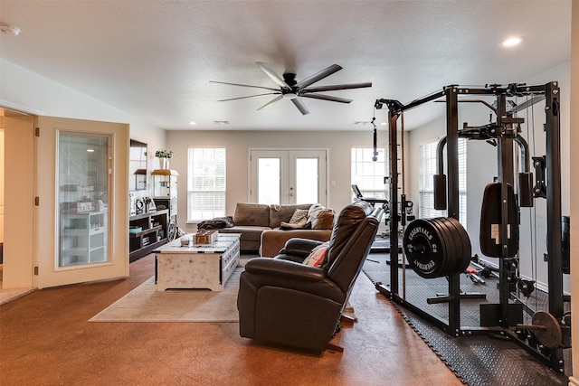
[[[225,215],[225,148],[189,147],[187,222]]]

